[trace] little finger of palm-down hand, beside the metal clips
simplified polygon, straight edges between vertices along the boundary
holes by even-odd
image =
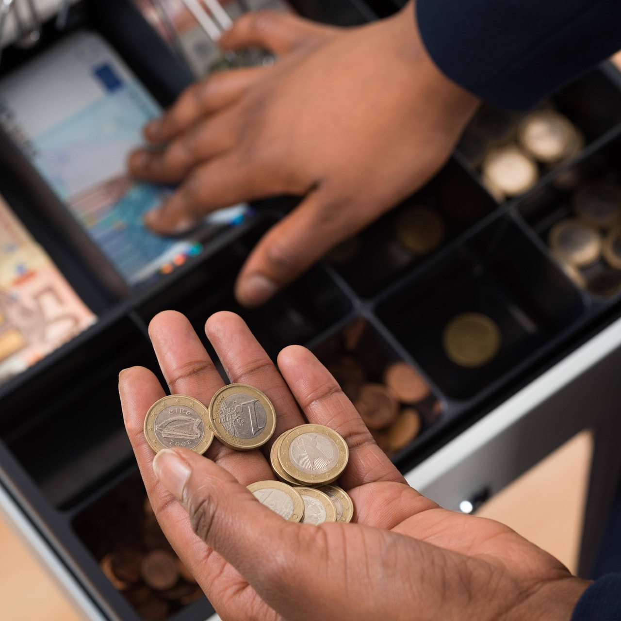
[[[235,21],[220,37],[224,50],[260,47],[278,56],[302,43],[325,36],[337,29],[277,11],[250,12]]]

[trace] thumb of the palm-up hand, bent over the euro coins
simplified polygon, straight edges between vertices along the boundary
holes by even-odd
[[[157,453],[153,471],[186,509],[196,535],[256,591],[271,590],[274,582],[284,582],[283,576],[291,575],[291,568],[283,572],[283,563],[296,564],[299,525],[286,522],[262,505],[232,474],[186,448]],[[280,561],[274,562],[274,558]]]

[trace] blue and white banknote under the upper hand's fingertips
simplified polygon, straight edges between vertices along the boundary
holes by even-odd
[[[0,81],[0,124],[130,286],[202,251],[200,238],[149,232],[171,188],[137,183],[127,156],[161,108],[99,35],[78,32]],[[248,207],[212,223],[237,224]]]

